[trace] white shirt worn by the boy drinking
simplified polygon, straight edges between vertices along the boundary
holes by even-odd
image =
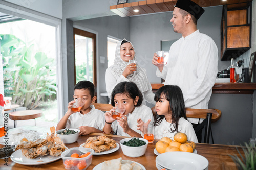
[[[80,126],[90,126],[102,131],[105,126],[104,112],[95,109],[93,105],[91,105],[91,108],[92,110],[84,115],[80,112],[71,114],[65,128],[79,129]]]

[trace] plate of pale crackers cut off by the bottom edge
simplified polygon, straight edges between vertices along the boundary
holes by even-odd
[[[130,160],[122,160],[122,158],[104,161],[93,168],[93,170],[101,169],[146,170],[142,164]]]

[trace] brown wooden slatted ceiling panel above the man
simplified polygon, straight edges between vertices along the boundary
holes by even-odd
[[[193,0],[195,3],[199,4],[201,7],[212,7],[218,5],[240,5],[240,3],[250,2],[252,0]],[[118,4],[110,6],[110,10],[121,17],[151,14],[157,12],[167,12],[173,11],[177,0],[144,0],[132,3]],[[139,12],[134,12],[133,10],[138,9]]]

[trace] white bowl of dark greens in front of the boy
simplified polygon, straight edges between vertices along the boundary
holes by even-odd
[[[79,129],[60,129],[56,131],[64,144],[76,142],[79,136],[79,132]]]

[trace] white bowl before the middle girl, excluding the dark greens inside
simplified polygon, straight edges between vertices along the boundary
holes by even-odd
[[[123,145],[124,141],[129,141],[131,139],[133,139],[134,137],[131,138],[124,138],[122,140],[120,140],[120,145],[123,151],[123,154],[126,156],[130,156],[130,157],[139,157],[145,154],[146,149],[147,149],[147,145],[148,145],[148,141],[146,139],[143,138],[139,138],[140,140],[143,140],[146,142],[145,145],[142,145],[140,147],[128,147],[126,145]],[[136,137],[137,139],[138,137]]]

